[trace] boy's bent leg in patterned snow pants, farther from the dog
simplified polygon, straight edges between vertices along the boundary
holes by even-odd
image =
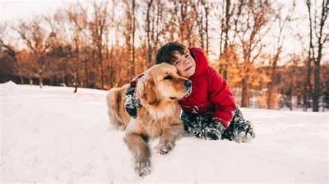
[[[221,139],[235,140],[235,142],[250,142],[253,138],[255,138],[253,124],[244,120],[241,111],[237,107],[233,120],[228,128],[223,131]]]

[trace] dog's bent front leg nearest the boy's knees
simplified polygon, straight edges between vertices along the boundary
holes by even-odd
[[[171,125],[171,127],[163,129],[160,136],[159,144],[155,147],[158,154],[167,154],[175,146],[175,140],[183,134],[183,125],[181,123]]]

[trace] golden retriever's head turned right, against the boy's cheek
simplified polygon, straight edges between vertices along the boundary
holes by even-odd
[[[149,68],[137,83],[137,98],[150,105],[161,100],[173,101],[185,98],[192,91],[192,82],[178,75],[175,66],[167,63]]]

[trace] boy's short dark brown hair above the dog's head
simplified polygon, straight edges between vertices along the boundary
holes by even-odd
[[[176,51],[181,55],[189,54],[189,50],[185,45],[178,42],[170,42],[159,48],[155,56],[155,64],[160,64],[162,62],[173,64],[177,59],[175,56]]]

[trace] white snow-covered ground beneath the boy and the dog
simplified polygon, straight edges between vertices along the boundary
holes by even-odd
[[[328,183],[329,113],[244,109],[249,144],[183,137],[167,155],[151,141],[140,178],[110,129],[106,91],[0,84],[1,183]]]

